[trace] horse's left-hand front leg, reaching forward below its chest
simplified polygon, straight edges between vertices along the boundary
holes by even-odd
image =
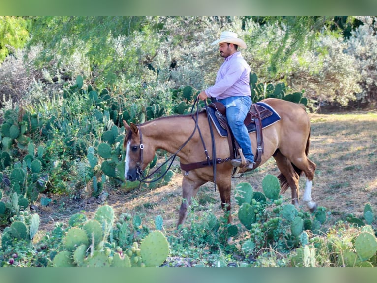
[[[193,175],[193,174],[191,174]],[[193,177],[193,176],[190,176]],[[201,185],[206,183],[206,181],[199,179],[189,179],[187,176],[183,177],[182,180],[182,203],[179,209],[179,219],[177,228],[186,220],[188,206],[191,205],[191,200],[196,196],[198,189]]]

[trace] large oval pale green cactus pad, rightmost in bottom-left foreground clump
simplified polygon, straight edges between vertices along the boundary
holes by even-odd
[[[169,244],[160,231],[153,231],[140,245],[140,255],[146,267],[160,266],[169,255]]]

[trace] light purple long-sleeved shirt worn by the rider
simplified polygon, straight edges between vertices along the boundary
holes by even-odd
[[[251,69],[241,52],[236,52],[222,63],[215,85],[205,90],[208,97],[223,99],[230,96],[251,96],[249,73]]]

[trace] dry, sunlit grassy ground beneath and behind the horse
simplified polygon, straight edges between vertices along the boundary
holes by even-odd
[[[377,212],[377,112],[311,114],[310,117],[312,136],[309,157],[317,164],[312,198],[331,212],[328,225],[345,219],[349,213],[362,216],[367,202]],[[267,174],[279,174],[273,159],[242,178],[232,179],[232,188],[237,183],[249,182],[255,191],[262,191],[261,182]],[[181,181],[182,176],[177,173],[168,185],[154,190],[124,192],[112,189],[106,203],[113,206],[117,215],[122,212],[138,213],[144,218],[143,223],[151,227],[155,217],[161,215],[165,230],[172,231],[178,221]],[[300,187],[304,188],[304,180]],[[283,197],[289,203],[290,191]],[[89,203],[85,199],[79,202],[64,200],[65,206],[62,206],[62,199],[58,198],[51,210],[41,212],[41,231],[50,230],[55,221],[66,221],[76,212],[84,212],[91,217],[99,205],[96,201]],[[196,200],[198,206],[195,215],[208,209],[222,215],[220,196],[214,191],[212,183],[199,190]],[[232,212],[235,213],[234,196],[232,205]]]

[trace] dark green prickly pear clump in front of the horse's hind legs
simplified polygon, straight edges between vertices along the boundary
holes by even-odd
[[[263,192],[253,191],[248,183],[239,183],[235,199],[238,203],[238,218],[250,232],[250,239],[257,248],[278,246],[282,249],[297,248],[303,239],[303,232],[320,233],[326,220],[326,210],[318,208],[317,213],[299,211],[293,204],[283,204],[279,195],[277,177],[266,175],[262,180]]]

